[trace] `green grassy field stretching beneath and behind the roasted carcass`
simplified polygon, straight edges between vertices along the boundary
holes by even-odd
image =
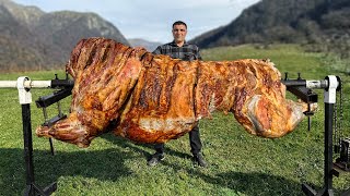
[[[339,75],[345,81],[345,132],[350,136],[349,81],[345,63],[320,53],[304,53],[294,45],[268,48],[241,46],[203,50],[205,60],[244,58],[270,59],[281,73],[307,79]],[[62,68],[63,70],[63,68]],[[27,75],[32,79],[51,79],[54,71],[1,74],[0,81]],[[62,71],[58,71],[63,77]],[[33,100],[50,90],[32,89]],[[301,184],[323,186],[323,91],[317,90],[319,109],[312,118],[312,130],[303,121],[291,134],[277,139],[249,135],[232,114],[215,113],[200,121],[208,168],[194,167],[188,136],[166,144],[166,158],[154,168],[147,166],[151,145],[138,145],[113,134],[95,138],[89,148],[54,142],[51,156],[46,138],[33,134],[35,181],[39,186],[58,183],[54,195],[303,195]],[[0,89],[0,195],[23,195],[25,170],[21,106],[15,89]],[[289,95],[289,97],[292,97]],[[69,99],[63,102],[67,113]],[[49,112],[55,114],[54,109]],[[39,109],[32,105],[32,125],[43,122]],[[350,173],[334,179],[336,194],[350,187]]]

